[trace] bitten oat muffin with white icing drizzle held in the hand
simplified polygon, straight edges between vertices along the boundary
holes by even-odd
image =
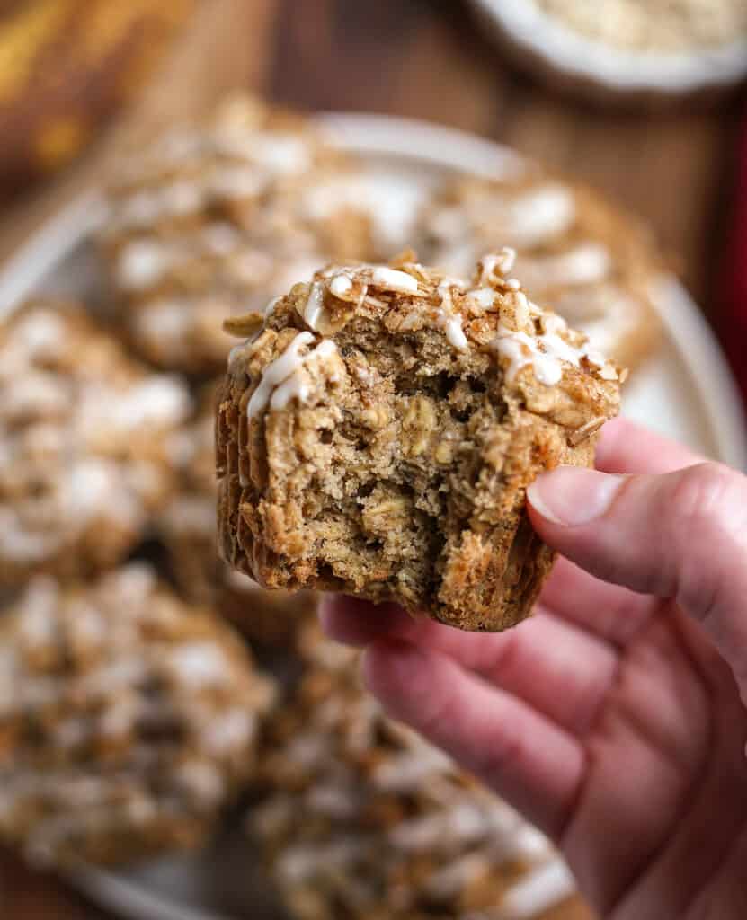
[[[620,395],[615,366],[506,277],[512,259],[472,282],[411,254],[332,267],[247,316],[218,401],[227,561],[464,629],[529,614],[553,553],[526,487],[590,465]]]

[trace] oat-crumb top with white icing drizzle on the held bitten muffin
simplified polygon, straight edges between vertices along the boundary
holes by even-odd
[[[348,376],[370,388],[385,379],[402,388],[404,378],[493,376],[504,397],[569,427],[573,403],[600,415],[616,407],[618,369],[529,299],[509,277],[514,258],[510,248],[486,255],[469,282],[409,253],[392,265],[332,266],[264,315],[228,322],[237,334],[253,330],[228,362],[229,378],[251,381],[247,419],[293,399],[312,405],[320,387],[344,390]]]

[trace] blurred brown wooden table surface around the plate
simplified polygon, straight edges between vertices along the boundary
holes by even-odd
[[[199,114],[237,86],[308,109],[441,121],[542,157],[648,217],[713,314],[741,98],[672,116],[555,98],[501,63],[457,0],[207,0],[138,105],[65,176],[0,219],[0,257],[95,181],[124,139]],[[0,915],[104,918],[8,857],[0,858]],[[578,905],[562,912],[562,920],[588,917]]]

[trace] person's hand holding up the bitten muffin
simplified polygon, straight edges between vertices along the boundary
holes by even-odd
[[[747,478],[616,420],[528,489],[534,616],[464,633],[330,596],[387,712],[557,843],[611,920],[747,917]]]

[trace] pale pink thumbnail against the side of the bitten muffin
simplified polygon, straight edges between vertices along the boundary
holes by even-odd
[[[603,517],[625,479],[579,466],[558,466],[535,479],[526,497],[547,521],[577,527]]]

